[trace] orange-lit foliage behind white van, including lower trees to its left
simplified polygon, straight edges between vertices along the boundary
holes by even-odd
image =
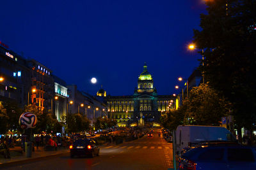
[[[228,113],[228,103],[218,91],[201,84],[193,87],[178,110],[170,111],[161,117],[161,123],[168,129],[176,129],[178,125],[220,125],[221,117]]]

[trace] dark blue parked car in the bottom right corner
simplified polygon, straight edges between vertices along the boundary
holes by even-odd
[[[255,148],[237,143],[205,144],[184,153],[179,169],[256,169]]]

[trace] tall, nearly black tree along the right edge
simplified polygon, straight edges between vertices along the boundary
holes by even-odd
[[[195,43],[204,49],[205,80],[232,103],[238,129],[256,123],[256,1],[207,1]],[[240,132],[241,133],[241,132]],[[239,135],[241,138],[241,135]]]

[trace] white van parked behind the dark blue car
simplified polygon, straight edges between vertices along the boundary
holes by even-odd
[[[225,127],[202,125],[179,125],[176,129],[176,148],[180,153],[184,148],[205,141],[236,141]]]

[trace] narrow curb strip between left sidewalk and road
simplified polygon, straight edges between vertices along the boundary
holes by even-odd
[[[35,161],[35,160],[42,160],[42,159],[49,158],[49,157],[56,157],[58,155],[63,155],[65,153],[69,153],[69,151],[63,152],[63,153],[56,153],[56,154],[52,154],[52,155],[45,155],[45,156],[42,156],[42,157],[35,157],[35,158],[31,157],[31,158],[27,158],[27,159],[24,159],[24,160],[6,162],[6,163],[3,163],[3,164],[0,163],[0,169],[3,168],[3,167],[6,167],[6,166],[15,166],[17,164],[24,164],[24,163],[27,163],[27,162],[31,162],[31,160]]]

